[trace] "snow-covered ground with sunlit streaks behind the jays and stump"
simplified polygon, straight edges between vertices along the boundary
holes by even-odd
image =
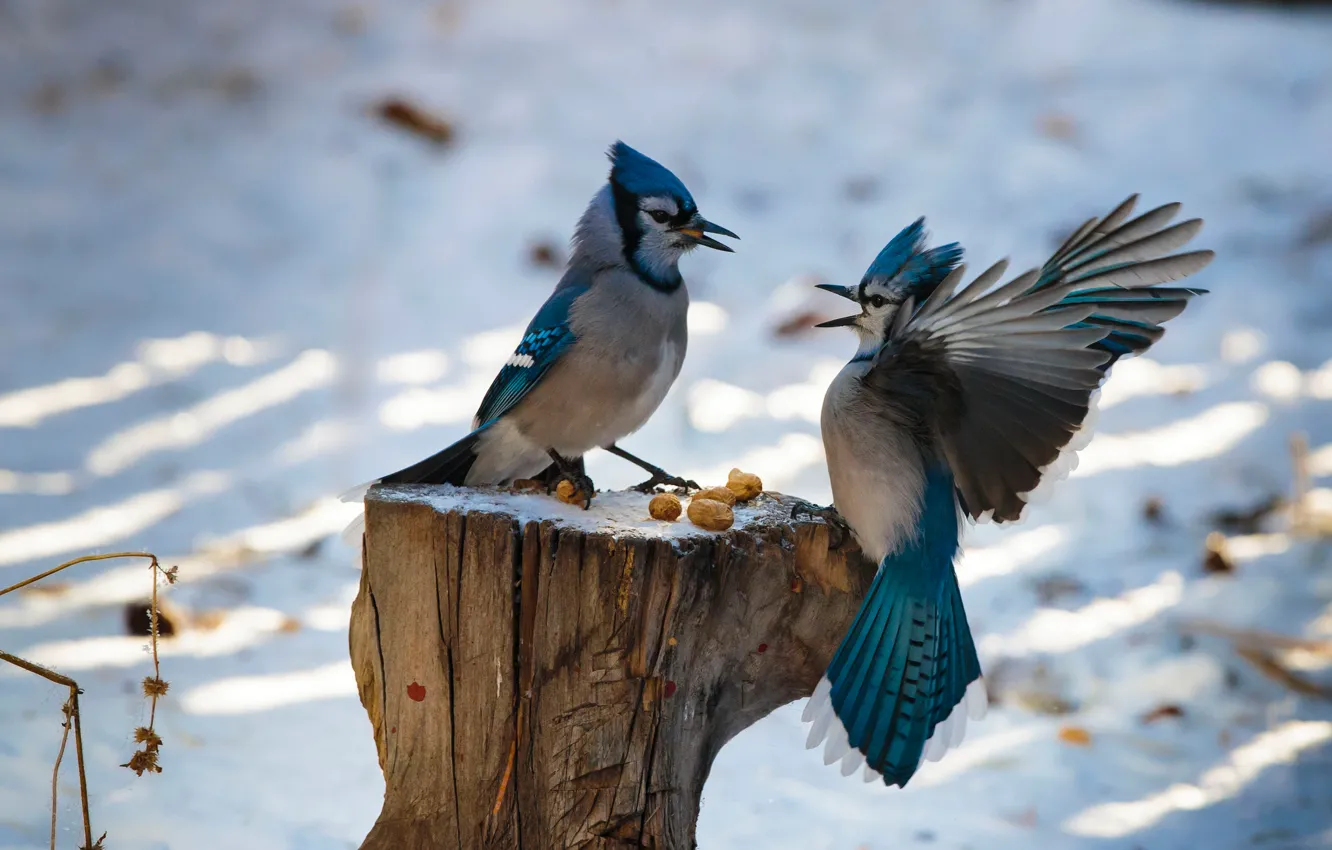
[[[856,280],[920,213],[976,262],[1030,265],[1142,191],[1219,253],[1213,294],[1119,368],[1056,500],[971,536],[1000,702],[963,749],[864,786],[789,706],[722,751],[701,847],[1332,846],[1332,709],[1179,628],[1332,637],[1327,546],[1280,520],[1232,541],[1235,577],[1200,569],[1212,512],[1288,490],[1292,432],[1332,474],[1329,44],[1327,13],[1167,0],[0,0],[0,585],[93,550],[181,566],[161,775],[116,766],[144,713],[123,626],[144,568],[0,605],[0,646],[87,690],[108,846],[368,831],[330,496],[462,433],[554,282],[530,244],[563,245],[617,137],[743,237],[686,260],[690,356],[626,444],[707,481],[739,465],[827,500],[818,400],[851,340],[771,329],[838,309],[809,276]],[[457,145],[374,120],[394,92]],[[61,702],[0,671],[3,847],[45,846]],[[1163,703],[1183,717],[1140,721]]]

